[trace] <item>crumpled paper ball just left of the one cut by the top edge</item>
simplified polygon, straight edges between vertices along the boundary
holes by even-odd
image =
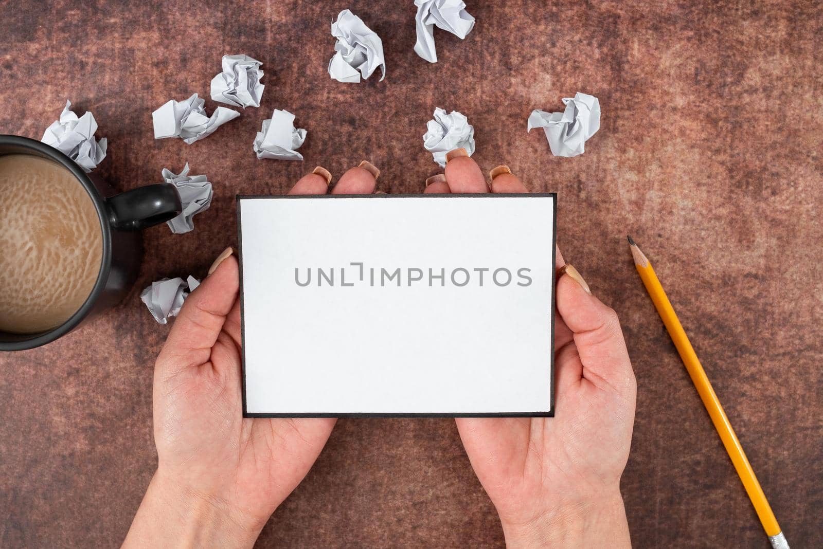
[[[332,22],[334,57],[328,62],[328,75],[340,82],[365,80],[380,67],[386,77],[386,61],[383,55],[383,41],[363,20],[349,10],[343,10]]]

